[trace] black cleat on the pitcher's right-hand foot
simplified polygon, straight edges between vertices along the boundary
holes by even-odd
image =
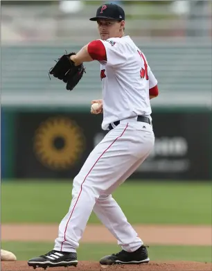
[[[121,250],[116,254],[108,255],[100,259],[101,265],[113,265],[113,264],[140,264],[148,263],[150,259],[148,258],[148,251],[144,245],[139,247],[138,250],[134,252],[126,252]]]

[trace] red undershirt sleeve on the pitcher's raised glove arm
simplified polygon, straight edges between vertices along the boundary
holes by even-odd
[[[90,42],[87,46],[87,51],[93,60],[107,60],[105,46],[100,40]]]

